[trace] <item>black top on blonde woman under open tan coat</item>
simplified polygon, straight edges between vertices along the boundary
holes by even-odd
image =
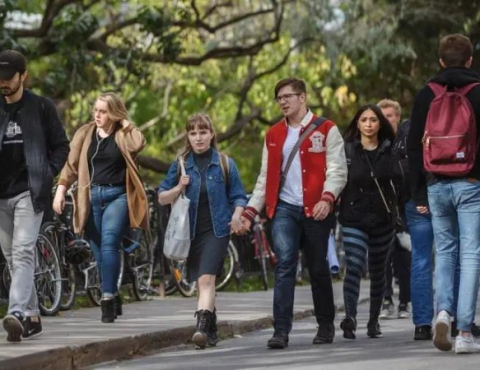
[[[92,184],[125,185],[127,164],[115,142],[115,132],[102,139],[94,130],[87,155]]]

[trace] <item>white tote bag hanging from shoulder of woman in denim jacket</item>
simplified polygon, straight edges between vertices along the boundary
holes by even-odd
[[[179,159],[179,165],[182,176],[185,176],[183,158]],[[165,231],[163,254],[171,260],[179,261],[188,257],[188,252],[190,251],[189,208],[190,199],[182,192],[172,204],[172,212],[170,213],[167,230]]]

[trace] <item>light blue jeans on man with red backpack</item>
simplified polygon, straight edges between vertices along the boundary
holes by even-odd
[[[440,181],[428,187],[436,244],[437,310],[452,314],[455,269],[460,264],[457,328],[470,332],[480,272],[480,182]]]

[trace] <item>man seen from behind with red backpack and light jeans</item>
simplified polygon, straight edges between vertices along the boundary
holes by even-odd
[[[434,345],[451,350],[456,315],[456,353],[480,352],[471,333],[480,271],[480,80],[470,69],[472,55],[467,37],[441,39],[442,70],[415,99],[407,142],[412,198],[420,214],[431,214],[436,244]]]

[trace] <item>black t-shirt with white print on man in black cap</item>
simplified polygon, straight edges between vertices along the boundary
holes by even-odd
[[[18,124],[18,112],[24,105],[24,99],[13,104],[5,104],[8,124],[2,138],[0,151],[0,198],[12,198],[28,190],[28,170],[25,162],[23,132]]]

